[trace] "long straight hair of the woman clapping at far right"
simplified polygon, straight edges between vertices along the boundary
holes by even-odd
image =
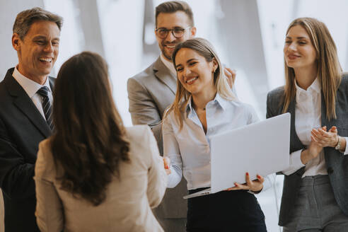
[[[336,92],[342,80],[342,68],[337,56],[337,49],[329,30],[323,22],[315,18],[296,18],[286,30],[286,35],[290,28],[295,25],[301,25],[306,30],[315,51],[317,53],[318,62],[318,79],[322,86],[326,105],[326,117],[328,120],[336,118]],[[285,86],[284,86],[284,108],[286,112],[289,108],[291,100],[295,98],[295,72],[294,69],[287,66],[284,59],[285,68]]]

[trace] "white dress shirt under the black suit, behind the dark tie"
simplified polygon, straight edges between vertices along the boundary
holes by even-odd
[[[18,71],[17,67],[15,67],[15,69],[13,70],[12,76],[22,86],[25,93],[28,94],[29,98],[31,100],[33,100],[33,103],[36,106],[37,110],[39,110],[42,117],[46,120],[45,112],[42,109],[42,96],[40,94],[38,94],[37,91],[41,87],[46,86],[50,90],[48,98],[50,98],[50,103],[52,104],[52,91],[50,88],[50,81],[49,81],[48,76],[47,76],[47,79],[43,85],[40,85],[39,83],[36,83],[35,81],[32,81],[32,80],[28,79],[27,77],[23,76]]]

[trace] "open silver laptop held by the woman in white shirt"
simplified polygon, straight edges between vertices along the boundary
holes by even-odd
[[[209,195],[245,182],[248,172],[266,176],[289,167],[290,114],[248,124],[210,139],[211,187],[184,199]]]

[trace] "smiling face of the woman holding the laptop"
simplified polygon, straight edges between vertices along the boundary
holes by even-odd
[[[211,62],[195,50],[182,48],[175,56],[175,68],[181,85],[192,95],[215,92],[214,71],[218,64]]]

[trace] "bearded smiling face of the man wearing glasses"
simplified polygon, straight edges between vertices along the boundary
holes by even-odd
[[[157,25],[156,28],[166,28],[168,30],[174,29],[174,28],[182,28],[185,30],[184,35],[180,38],[174,37],[173,33],[170,31],[168,35],[162,39],[161,37],[158,37],[156,33],[156,40],[158,42],[158,46],[161,49],[161,52],[168,61],[171,62],[172,60],[172,54],[175,48],[175,45],[178,45],[178,43],[183,42],[185,40],[191,39],[192,37],[195,37],[196,34],[196,28],[190,27],[190,19],[186,15],[184,11],[176,11],[175,13],[159,13],[157,16]]]

